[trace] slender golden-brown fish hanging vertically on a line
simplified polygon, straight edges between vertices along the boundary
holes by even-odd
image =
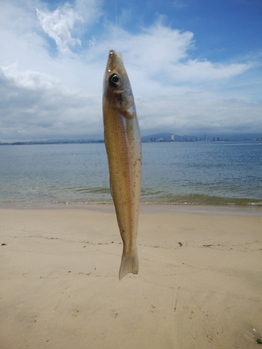
[[[110,191],[123,242],[119,280],[138,274],[136,246],[140,210],[142,150],[140,128],[121,52],[110,50],[103,79],[103,126]]]

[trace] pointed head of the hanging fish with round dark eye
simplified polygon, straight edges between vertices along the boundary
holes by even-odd
[[[121,52],[110,50],[103,80],[103,98],[114,103],[121,110],[133,105],[133,94],[129,77],[124,68]]]

